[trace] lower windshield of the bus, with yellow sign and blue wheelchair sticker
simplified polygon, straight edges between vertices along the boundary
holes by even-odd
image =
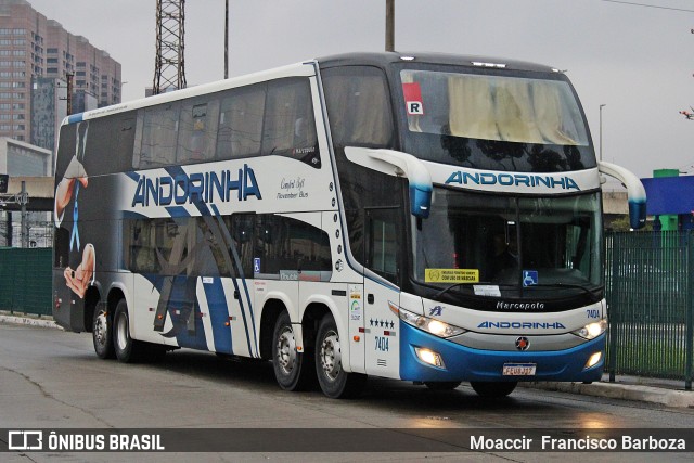
[[[412,226],[414,280],[441,288],[463,282],[455,291],[467,294],[475,284],[536,296],[595,288],[600,214],[599,193],[517,197],[437,188],[429,217]]]

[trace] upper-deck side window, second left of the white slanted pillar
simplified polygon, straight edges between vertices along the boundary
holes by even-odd
[[[223,93],[217,132],[217,159],[260,154],[266,85]]]

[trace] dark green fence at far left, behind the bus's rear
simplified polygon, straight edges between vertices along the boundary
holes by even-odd
[[[51,314],[50,247],[0,249],[0,309]]]

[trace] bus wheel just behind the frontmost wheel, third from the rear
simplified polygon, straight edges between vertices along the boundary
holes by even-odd
[[[306,389],[312,373],[310,355],[296,350],[294,326],[286,311],[282,311],[278,317],[272,339],[272,369],[280,387],[284,390]]]

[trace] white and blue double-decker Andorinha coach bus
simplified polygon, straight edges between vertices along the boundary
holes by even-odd
[[[287,390],[368,375],[510,394],[599,380],[601,172],[567,77],[345,54],[68,116],[57,323],[97,355],[271,360]]]

